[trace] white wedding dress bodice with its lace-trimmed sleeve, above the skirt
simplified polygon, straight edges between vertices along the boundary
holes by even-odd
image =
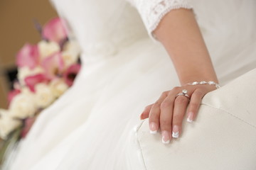
[[[67,21],[70,36],[80,42],[84,56],[92,59],[113,56],[146,33],[154,39],[151,33],[166,13],[191,8],[186,0],[51,1]]]

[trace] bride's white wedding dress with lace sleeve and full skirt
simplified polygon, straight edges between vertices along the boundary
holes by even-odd
[[[53,4],[67,21],[70,37],[80,43],[82,69],[19,143],[10,158],[12,170],[144,169],[134,131],[139,115],[162,91],[179,85],[167,52],[151,35],[173,9],[193,8],[220,85],[256,66],[255,0]]]

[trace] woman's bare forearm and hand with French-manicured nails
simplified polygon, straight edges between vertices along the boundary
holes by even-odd
[[[181,135],[184,118],[190,122],[196,118],[203,96],[216,89],[209,84],[187,84],[193,81],[218,83],[218,79],[193,11],[183,8],[170,11],[154,30],[154,35],[171,57],[181,86],[164,91],[155,103],[146,106],[141,119],[149,118],[151,132],[161,130],[162,141],[169,143],[172,132],[176,133],[174,137],[178,137],[177,132]],[[183,89],[188,91],[191,101],[186,96],[176,97]]]

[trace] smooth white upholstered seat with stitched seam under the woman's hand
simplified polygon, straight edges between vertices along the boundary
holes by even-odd
[[[137,130],[147,170],[256,169],[256,69],[207,94],[193,123],[169,145],[149,133],[148,120]]]

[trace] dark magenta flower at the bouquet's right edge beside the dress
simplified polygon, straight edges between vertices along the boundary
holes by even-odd
[[[68,86],[73,85],[73,81],[75,80],[75,77],[80,71],[80,68],[81,68],[80,64],[73,64],[70,67],[68,67],[68,69],[64,73],[65,83],[68,84]]]

